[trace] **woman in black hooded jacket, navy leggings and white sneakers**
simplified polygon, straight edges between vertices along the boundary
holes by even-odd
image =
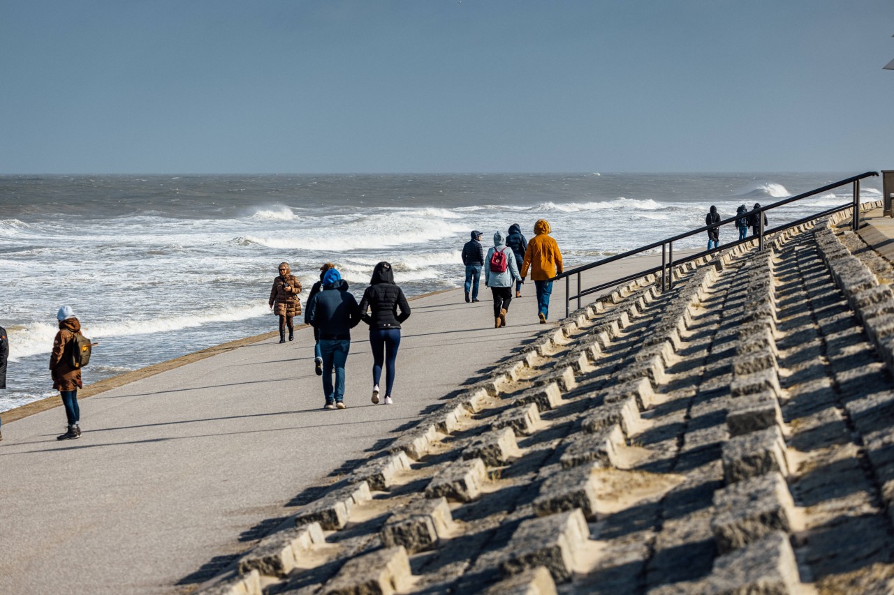
[[[372,314],[367,314],[372,308]],[[398,310],[401,311],[398,314]],[[360,316],[369,324],[369,346],[373,350],[373,403],[379,402],[379,381],[385,366],[385,405],[392,404],[394,365],[401,347],[401,323],[409,318],[409,303],[403,290],[394,282],[390,263],[375,265],[369,287],[360,300]]]

